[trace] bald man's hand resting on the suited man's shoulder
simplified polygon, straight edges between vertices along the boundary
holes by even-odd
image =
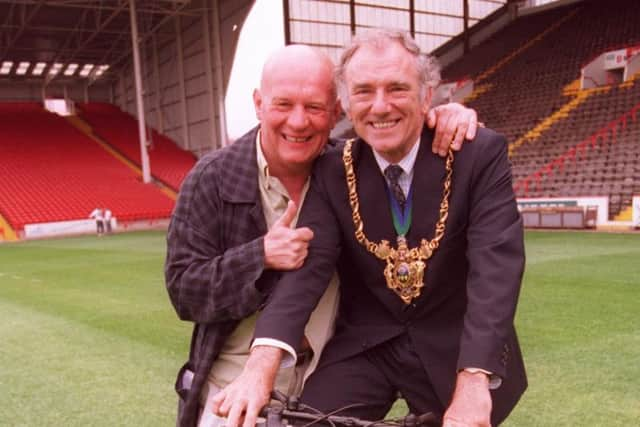
[[[436,135],[431,147],[433,152],[446,156],[449,144],[454,150],[459,150],[465,138],[468,140],[475,138],[478,115],[471,108],[451,102],[430,109],[427,115],[427,125],[432,129],[436,128]]]

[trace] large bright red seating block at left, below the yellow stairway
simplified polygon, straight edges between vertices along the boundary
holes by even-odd
[[[16,231],[85,219],[95,207],[119,221],[171,214],[174,201],[157,186],[39,103],[0,103],[0,135],[0,213]]]

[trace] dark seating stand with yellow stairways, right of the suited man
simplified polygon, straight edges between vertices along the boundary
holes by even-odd
[[[596,56],[640,44],[633,0],[523,16],[443,70],[473,79],[466,101],[510,141],[518,197],[609,196],[610,219],[640,192],[640,79],[579,89]]]

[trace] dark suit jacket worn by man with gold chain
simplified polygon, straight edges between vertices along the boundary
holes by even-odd
[[[431,140],[424,130],[412,184],[410,247],[433,238],[438,220],[445,162],[432,154]],[[354,238],[341,150],[323,156],[298,221],[315,233],[309,256],[301,269],[283,274],[258,320],[256,337],[295,348],[337,264],[341,304],[321,364],[406,332],[443,406],[451,399],[457,370],[482,368],[503,378],[492,392],[492,419],[494,424],[504,419],[526,388],[513,327],[524,269],[523,231],[506,148],[502,136],[480,129],[456,154],[446,232],[427,261],[422,294],[410,305],[387,288],[385,262]],[[371,241],[386,239],[395,246],[385,181],[371,148],[357,140],[353,157],[364,232]]]

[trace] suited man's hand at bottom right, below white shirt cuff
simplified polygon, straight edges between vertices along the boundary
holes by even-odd
[[[442,427],[490,427],[491,405],[489,377],[460,371]]]

